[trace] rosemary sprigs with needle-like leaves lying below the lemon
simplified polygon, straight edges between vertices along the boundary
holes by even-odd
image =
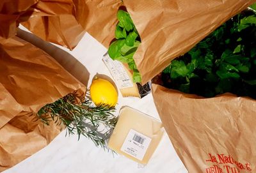
[[[96,146],[107,149],[105,140],[109,138],[117,121],[113,112],[114,107],[95,107],[84,95],[79,96],[74,92],[45,105],[36,115],[46,125],[49,125],[49,121],[63,124],[66,127],[66,135],[77,133],[78,140],[83,135],[91,139]]]

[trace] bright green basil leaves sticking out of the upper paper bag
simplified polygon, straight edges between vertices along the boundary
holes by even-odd
[[[133,82],[141,82],[141,75],[133,59],[133,56],[141,43],[140,36],[129,13],[124,10],[118,10],[117,19],[118,24],[116,25],[115,30],[116,40],[109,46],[109,57],[113,60],[127,63],[129,68],[133,71]]]

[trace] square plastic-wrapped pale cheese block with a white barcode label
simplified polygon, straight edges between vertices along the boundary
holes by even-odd
[[[108,146],[135,162],[147,164],[163,132],[162,123],[154,117],[131,107],[123,107]]]

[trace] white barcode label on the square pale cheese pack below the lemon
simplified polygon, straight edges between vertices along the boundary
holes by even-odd
[[[138,160],[143,160],[150,142],[151,139],[149,137],[131,129],[124,140],[121,151],[137,158]]]

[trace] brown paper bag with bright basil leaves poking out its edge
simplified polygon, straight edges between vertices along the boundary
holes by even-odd
[[[225,20],[255,0],[129,1],[127,10],[141,36],[134,60],[142,83],[155,77],[214,31]]]

